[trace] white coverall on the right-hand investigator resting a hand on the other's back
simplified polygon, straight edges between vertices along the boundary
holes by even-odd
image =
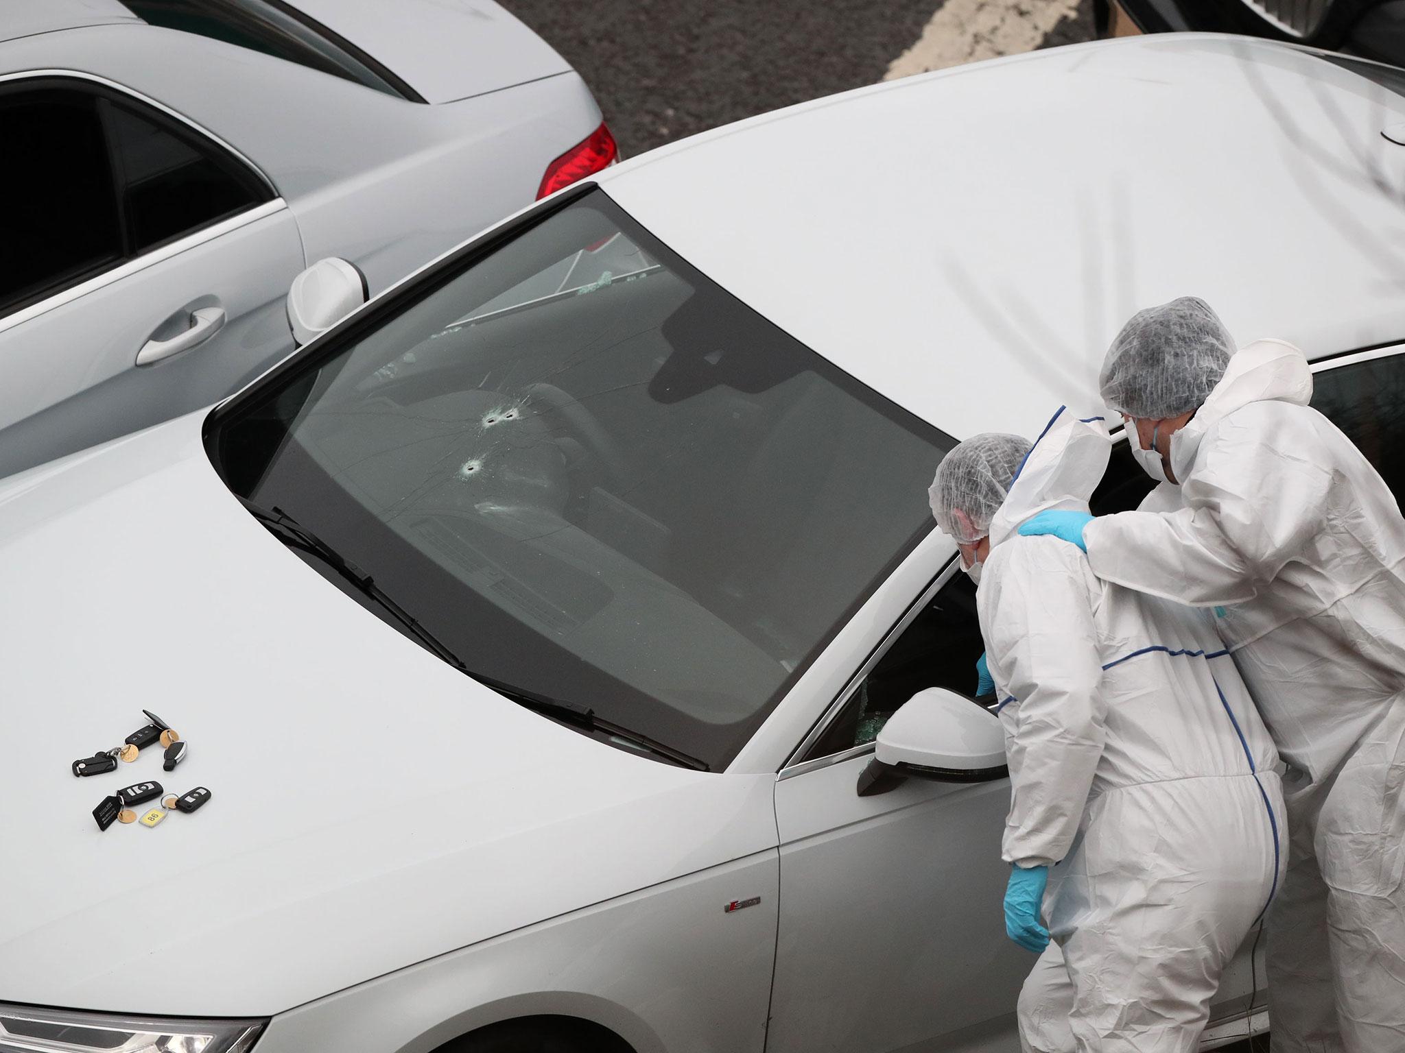
[[[1100,517],[1083,542],[1103,581],[1217,608],[1288,764],[1273,1049],[1401,1053],[1405,519],[1311,395],[1295,347],[1238,351],[1172,437],[1183,507]]]

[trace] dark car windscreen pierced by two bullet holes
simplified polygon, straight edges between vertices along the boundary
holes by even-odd
[[[932,529],[954,444],[599,188],[542,215],[266,378],[208,446],[468,670],[719,769]]]

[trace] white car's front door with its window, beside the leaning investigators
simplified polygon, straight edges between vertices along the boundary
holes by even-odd
[[[1019,1047],[1034,956],[1005,935],[1009,779],[856,792],[887,717],[926,687],[969,696],[981,651],[975,590],[951,563],[781,771],[770,1053]]]

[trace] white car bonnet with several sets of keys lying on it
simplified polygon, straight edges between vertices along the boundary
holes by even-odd
[[[0,484],[4,998],[268,1015],[774,847],[774,776],[636,757],[455,673],[251,519],[200,430]],[[73,778],[143,708],[187,760]],[[98,831],[148,779],[212,796]]]

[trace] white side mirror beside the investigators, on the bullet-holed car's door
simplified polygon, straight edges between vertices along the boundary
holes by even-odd
[[[1009,774],[1000,719],[954,691],[927,688],[884,724],[857,789],[867,797],[906,778],[989,782]]]

